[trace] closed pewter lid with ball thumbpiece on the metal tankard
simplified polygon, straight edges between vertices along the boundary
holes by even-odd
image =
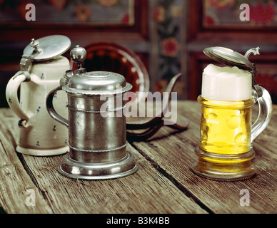
[[[86,72],[81,63],[86,59],[86,50],[79,46],[70,52],[71,58],[77,63],[78,69],[68,79],[63,89],[69,93],[84,95],[104,95],[125,93],[131,90],[131,84],[126,82],[119,73],[107,71]]]

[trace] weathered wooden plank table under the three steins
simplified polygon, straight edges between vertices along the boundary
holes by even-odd
[[[253,143],[257,174],[251,180],[217,182],[194,175],[200,105],[178,102],[176,133],[163,127],[146,142],[129,142],[139,170],[106,181],[71,180],[57,172],[61,156],[16,153],[18,119],[0,109],[0,212],[3,213],[276,213],[277,106],[270,125]],[[243,190],[249,204],[241,205]],[[29,198],[31,197],[32,198]]]

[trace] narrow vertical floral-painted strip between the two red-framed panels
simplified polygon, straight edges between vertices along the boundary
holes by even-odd
[[[158,73],[153,89],[161,93],[166,90],[171,78],[181,72],[183,4],[183,0],[159,0],[152,11],[158,36]],[[174,91],[183,97],[186,93],[183,79],[176,82]]]

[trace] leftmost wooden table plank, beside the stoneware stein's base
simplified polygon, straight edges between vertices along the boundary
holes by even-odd
[[[0,112],[0,207],[6,213],[51,213],[47,201],[41,195],[34,182],[24,170],[19,157],[16,155],[16,140],[13,133],[14,115],[9,109]],[[31,198],[31,192],[34,197]],[[28,193],[28,195],[26,194]],[[28,198],[30,197],[30,198]],[[30,200],[29,200],[30,199]],[[35,206],[31,206],[31,199]]]

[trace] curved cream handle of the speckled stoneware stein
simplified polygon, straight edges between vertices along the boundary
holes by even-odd
[[[21,119],[19,120],[19,127],[28,128],[29,120],[34,113],[28,110],[23,110],[19,104],[19,98],[17,97],[17,91],[21,83],[30,81],[29,73],[19,71],[12,77],[6,86],[6,100],[11,110]]]

